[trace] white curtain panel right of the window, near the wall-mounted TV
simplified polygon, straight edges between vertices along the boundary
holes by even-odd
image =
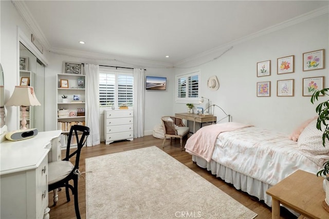
[[[134,68],[134,138],[144,136],[144,69]]]

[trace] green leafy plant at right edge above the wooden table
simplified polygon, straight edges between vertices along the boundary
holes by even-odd
[[[322,90],[316,90],[312,95],[310,102],[315,103],[318,101],[319,96],[329,96],[328,94],[329,88],[324,88]],[[320,103],[316,107],[316,112],[318,113],[319,117],[317,119],[317,129],[323,132],[322,134],[322,145],[325,147],[325,141],[329,140],[329,100],[326,100]],[[327,180],[329,180],[329,160],[323,163],[323,169],[317,173],[317,176],[325,175],[327,176]]]

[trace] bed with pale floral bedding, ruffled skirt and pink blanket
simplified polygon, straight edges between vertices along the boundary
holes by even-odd
[[[271,207],[268,188],[298,169],[316,173],[329,159],[315,122],[312,119],[299,128],[297,141],[285,133],[241,123],[208,125],[187,140],[185,149],[199,167]]]

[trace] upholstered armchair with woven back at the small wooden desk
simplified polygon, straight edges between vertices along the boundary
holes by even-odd
[[[161,117],[163,132],[165,133],[165,138],[162,142],[162,148],[165,147],[165,142],[167,138],[179,138],[180,149],[183,150],[182,138],[190,133],[190,128],[186,127],[182,122],[181,118],[174,116],[163,116]]]

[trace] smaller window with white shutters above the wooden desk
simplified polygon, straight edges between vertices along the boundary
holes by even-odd
[[[176,102],[197,103],[199,97],[199,74],[200,71],[193,71],[176,76]]]

